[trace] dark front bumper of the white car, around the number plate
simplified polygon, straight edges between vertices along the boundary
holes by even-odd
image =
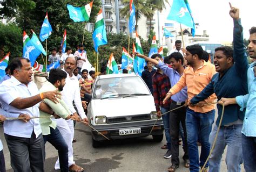
[[[146,137],[150,134],[150,131],[154,125],[156,120],[149,120],[149,121],[137,121],[132,123],[117,123],[117,124],[110,124],[110,125],[97,125],[93,126],[99,132],[103,132],[104,135],[109,139],[126,139],[126,138],[136,138],[136,137]],[[140,127],[141,133],[140,134],[130,134],[130,135],[119,135],[120,129],[126,128],[137,128]],[[161,135],[164,131],[163,120],[158,120],[156,125],[151,132],[151,135]],[[95,130],[92,130],[92,138],[93,140],[106,140],[102,135],[100,135]]]

